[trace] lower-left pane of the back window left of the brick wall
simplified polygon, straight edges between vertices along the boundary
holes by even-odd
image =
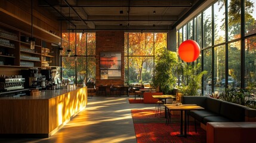
[[[62,57],[62,79],[75,83],[75,57]]]

